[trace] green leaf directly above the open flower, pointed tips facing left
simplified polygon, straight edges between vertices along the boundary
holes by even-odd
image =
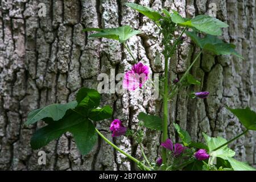
[[[123,26],[117,28],[85,28],[83,31],[98,31],[96,34],[91,34],[88,38],[108,38],[118,40],[120,43],[125,42],[131,36],[140,34],[141,31],[133,30],[130,26]]]

